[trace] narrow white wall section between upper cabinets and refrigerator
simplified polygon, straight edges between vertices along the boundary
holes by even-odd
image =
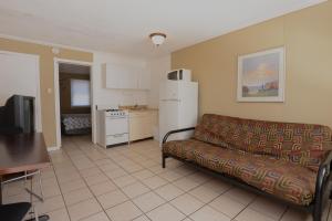
[[[165,80],[166,73],[170,71],[170,54],[153,59],[147,62],[151,71],[151,91],[148,93],[148,106],[158,108],[159,106],[159,82]]]

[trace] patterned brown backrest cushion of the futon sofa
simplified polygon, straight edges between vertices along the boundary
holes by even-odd
[[[328,150],[332,133],[326,126],[243,119],[205,114],[194,138],[239,151],[270,155],[314,171]]]

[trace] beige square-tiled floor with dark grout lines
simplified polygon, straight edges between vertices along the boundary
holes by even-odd
[[[231,187],[174,159],[160,167],[158,144],[148,140],[103,149],[89,137],[65,137],[42,171],[51,221],[302,221],[310,214]],[[23,181],[3,189],[4,202],[27,201]],[[27,185],[27,183],[25,183]],[[39,191],[37,179],[33,188]],[[330,207],[324,219],[332,221]]]

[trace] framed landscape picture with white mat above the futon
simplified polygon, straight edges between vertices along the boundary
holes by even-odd
[[[238,57],[238,102],[284,101],[284,49]]]

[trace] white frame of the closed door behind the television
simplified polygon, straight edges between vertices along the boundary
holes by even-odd
[[[38,54],[28,54],[28,53],[19,53],[19,52],[11,52],[11,51],[3,51],[0,50],[1,54],[9,54],[9,55],[17,55],[17,56],[27,56],[35,60],[35,83],[37,83],[37,94],[35,94],[35,102],[34,102],[34,117],[35,117],[35,125],[34,129],[38,133],[42,133],[42,112],[41,112],[41,90],[40,90],[40,55]]]

